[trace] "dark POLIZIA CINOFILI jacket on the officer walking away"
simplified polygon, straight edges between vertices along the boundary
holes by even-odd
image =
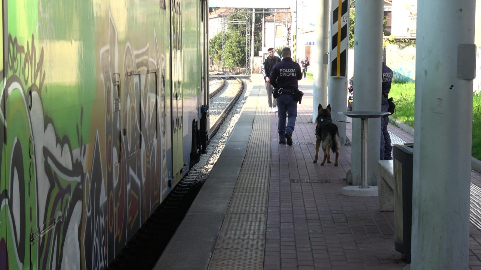
[[[269,75],[272,86],[286,89],[297,89],[297,81],[302,79],[301,66],[292,61],[291,57],[284,57],[277,63]]]

